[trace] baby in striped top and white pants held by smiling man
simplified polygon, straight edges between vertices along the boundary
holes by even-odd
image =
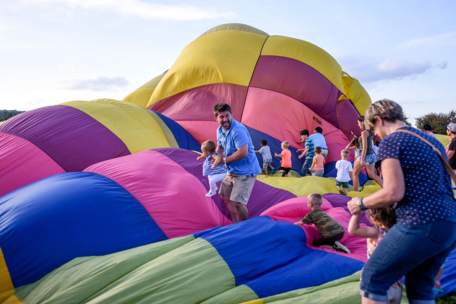
[[[223,163],[222,156],[218,155],[215,152],[215,143],[212,140],[206,140],[201,144],[202,155],[197,157],[197,160],[204,160],[202,164],[202,175],[207,176],[209,180],[209,192],[206,196],[211,197],[217,193],[217,183],[222,181],[227,175],[227,167]],[[214,160],[214,163],[211,164],[211,159]]]

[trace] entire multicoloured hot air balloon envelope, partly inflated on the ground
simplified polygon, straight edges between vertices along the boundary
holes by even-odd
[[[256,149],[266,139],[274,154],[289,141],[296,171],[259,175],[249,220],[234,225],[220,195],[205,196],[194,152],[215,141],[219,102]],[[334,165],[370,103],[321,48],[226,24],[123,101],[71,101],[1,123],[0,303],[359,302],[366,241],[347,232],[350,197],[338,193]],[[325,178],[301,177],[296,141],[318,126]],[[349,196],[378,190],[369,184]],[[316,228],[292,224],[312,192],[345,227],[351,253],[313,247]],[[454,273],[455,251],[445,293]]]

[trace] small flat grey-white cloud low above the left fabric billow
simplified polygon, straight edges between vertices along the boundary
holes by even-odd
[[[68,90],[119,91],[130,82],[121,76],[94,75],[85,79],[70,79],[58,82],[58,87]]]

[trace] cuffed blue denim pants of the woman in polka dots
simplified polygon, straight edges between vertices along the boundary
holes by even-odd
[[[435,275],[456,247],[456,219],[422,225],[397,222],[364,265],[361,295],[386,302],[389,287],[405,275],[409,303],[435,303]]]

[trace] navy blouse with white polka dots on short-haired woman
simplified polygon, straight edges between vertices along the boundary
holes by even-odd
[[[424,137],[446,155],[442,144],[423,131],[409,126],[399,129]],[[386,158],[399,159],[404,172],[405,195],[395,204],[398,222],[418,225],[456,216],[450,175],[428,144],[412,134],[394,132],[382,140],[378,149],[376,160]]]

